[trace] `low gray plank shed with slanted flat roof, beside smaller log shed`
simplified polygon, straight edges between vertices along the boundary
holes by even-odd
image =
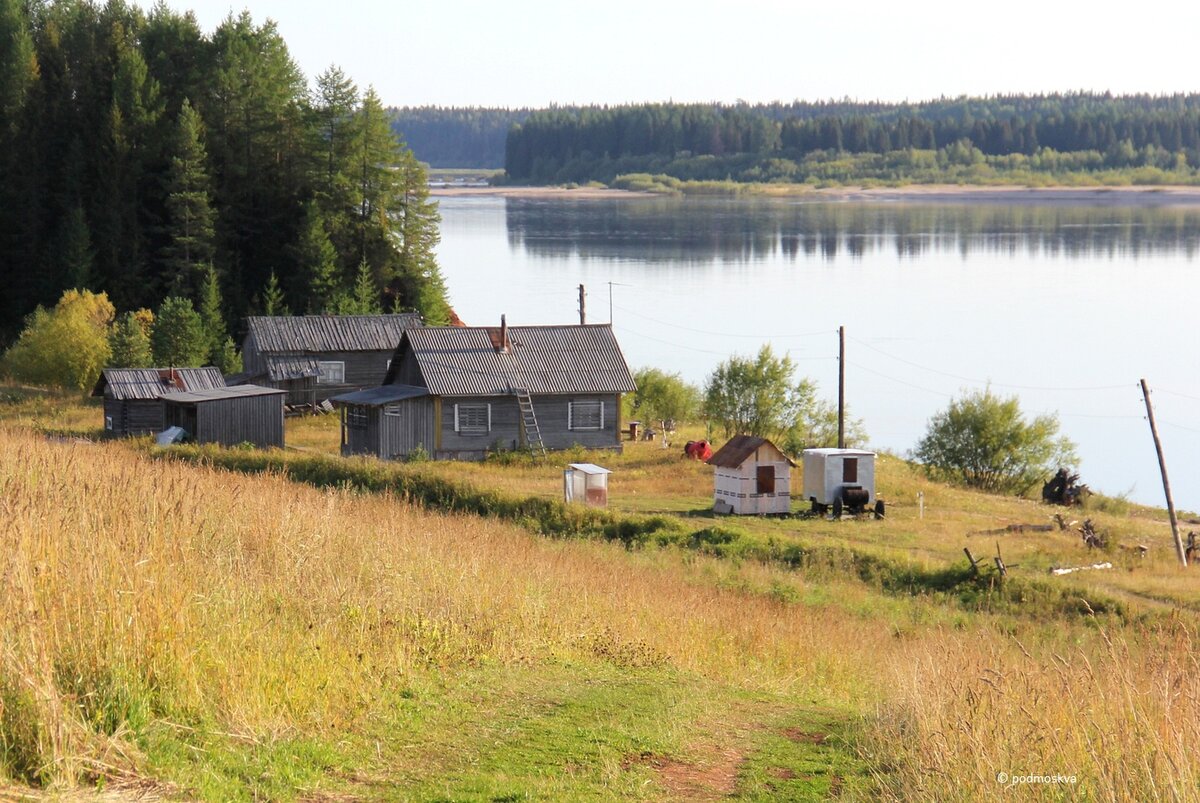
[[[182,427],[197,443],[283,448],[287,391],[258,385],[186,390],[162,397],[167,426]]]

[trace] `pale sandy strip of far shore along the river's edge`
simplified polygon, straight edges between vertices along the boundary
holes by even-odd
[[[1022,187],[918,184],[902,187],[828,187],[811,190],[794,185],[772,191],[770,185],[755,185],[748,198],[786,198],[809,202],[923,203],[923,204],[1030,204],[1091,206],[1184,206],[1200,205],[1200,187]],[[654,193],[610,190],[605,187],[433,187],[434,197],[496,196],[500,198],[578,199],[653,198]],[[712,197],[712,196],[708,196]],[[732,197],[732,196],[731,196]]]

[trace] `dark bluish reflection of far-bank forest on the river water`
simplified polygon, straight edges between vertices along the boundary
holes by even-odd
[[[509,246],[533,256],[650,263],[796,260],[893,252],[1064,258],[1184,254],[1200,209],[1014,204],[814,204],[620,199],[505,204]]]

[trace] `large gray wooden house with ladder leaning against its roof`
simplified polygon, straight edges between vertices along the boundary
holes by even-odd
[[[481,460],[497,449],[620,450],[634,378],[608,324],[408,329],[386,382],[331,401],[342,454]]]

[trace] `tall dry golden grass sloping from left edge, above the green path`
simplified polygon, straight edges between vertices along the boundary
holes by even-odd
[[[850,699],[862,651],[892,639],[882,622],[714,585],[701,558],[120,444],[0,429],[0,775],[42,785],[136,771],[127,737],[151,721],[347,732],[414,673],[487,664],[661,665]]]

